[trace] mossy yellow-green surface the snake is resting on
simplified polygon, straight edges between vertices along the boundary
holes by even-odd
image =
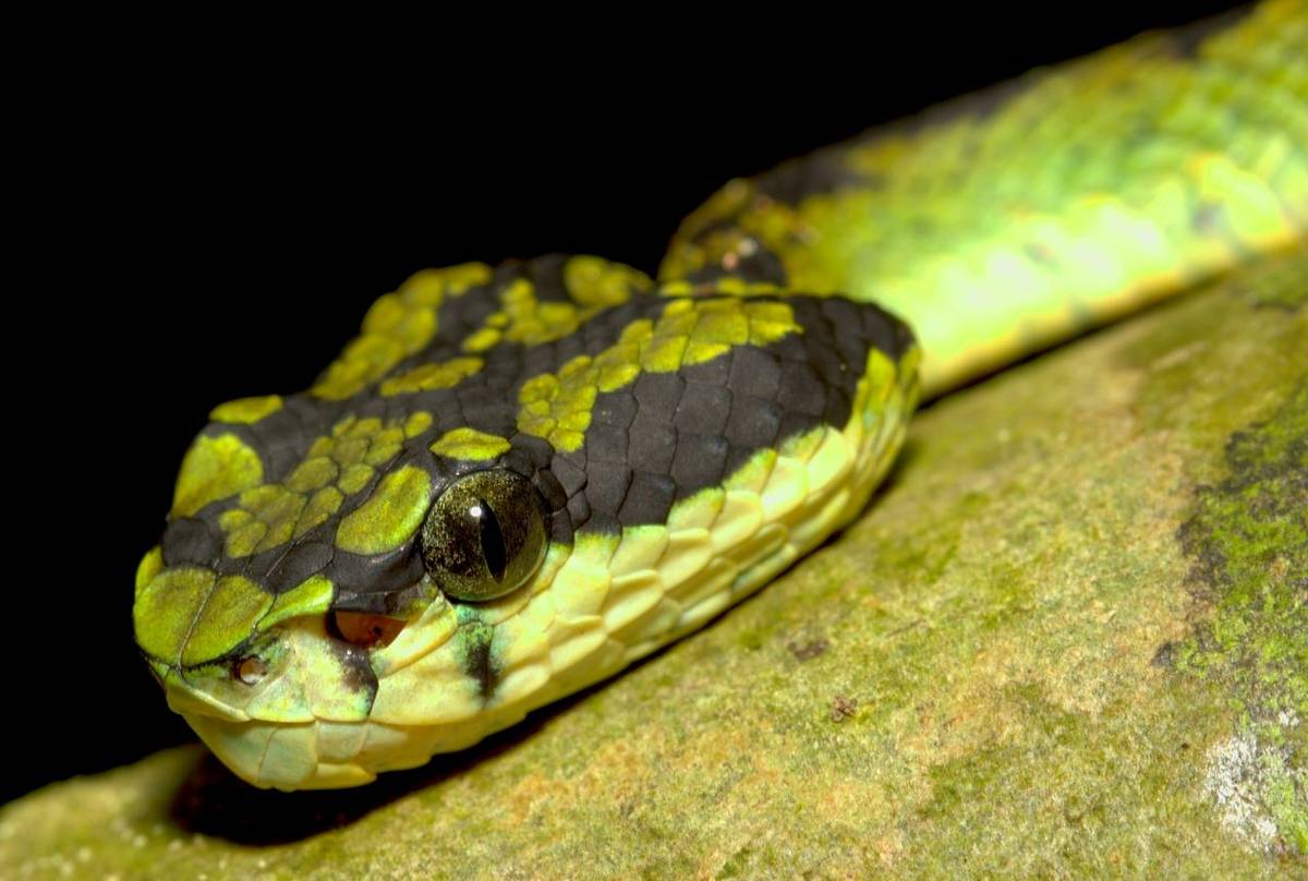
[[[836,541],[473,750],[296,795],[161,753],[7,806],[0,876],[1308,874],[1305,279],[938,402]]]

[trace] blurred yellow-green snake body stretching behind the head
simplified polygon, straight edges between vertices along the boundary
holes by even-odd
[[[766,175],[731,182],[662,280],[768,249],[789,287],[908,321],[934,397],[1303,238],[1308,16],[1269,3],[1188,51],[1143,37],[1033,72],[998,106],[798,162],[845,182],[793,203]]]

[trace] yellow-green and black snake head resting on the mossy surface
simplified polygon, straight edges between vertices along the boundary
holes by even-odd
[[[916,395],[900,322],[778,295],[429,271],[307,391],[216,407],[137,572],[170,706],[258,785],[365,783],[763,584],[857,512]]]

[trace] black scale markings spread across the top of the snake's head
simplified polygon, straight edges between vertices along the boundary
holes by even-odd
[[[595,357],[612,348],[633,322],[657,323],[676,302],[633,292],[627,302],[595,313],[561,339],[534,346],[501,342],[476,352],[480,369],[454,387],[381,393],[385,378],[468,357],[467,338],[485,326],[500,309],[502,292],[521,279],[532,283],[538,302],[565,301],[565,258],[509,263],[489,284],[447,297],[432,342],[351,398],[290,395],[280,411],[254,424],[208,427],[204,433],[211,437],[232,433],[241,439],[259,454],[263,480],[279,483],[305,459],[315,439],[330,437],[347,416],[395,424],[415,412],[430,416],[430,425],[405,437],[390,462],[375,466],[362,490],[347,494],[331,517],[293,541],[241,558],[226,556],[218,520],[237,504],[229,497],[192,517],[175,518],[164,539],[165,562],[239,573],[272,593],[323,575],[336,585],[336,607],[385,614],[430,571],[419,535],[378,554],[347,552],[335,539],[341,520],[364,505],[387,474],[404,466],[425,470],[433,503],[464,475],[488,469],[517,475],[539,496],[544,533],[552,542],[568,543],[578,529],[612,533],[662,524],[675,501],[719,484],[759,449],[823,422],[844,427],[869,350],[880,348],[897,360],[910,343],[908,330],[875,306],[842,298],[780,297],[802,333],[757,348],[738,346],[676,373],[641,373],[623,387],[598,393],[579,449],[556,450],[544,439],[521,433],[518,398],[526,381],[557,376],[578,356]],[[753,302],[766,300],[756,297]],[[510,449],[479,461],[433,454],[430,445],[456,428],[505,439]],[[515,529],[504,512],[493,509],[466,537],[475,542],[477,566],[484,564],[492,580],[502,580],[514,566],[514,548],[522,545]],[[453,558],[446,563],[463,564]],[[479,670],[489,669],[488,655],[473,656],[483,658],[476,661]]]

